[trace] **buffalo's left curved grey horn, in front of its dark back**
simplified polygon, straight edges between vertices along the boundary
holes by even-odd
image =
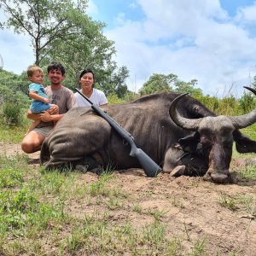
[[[201,119],[186,119],[183,118],[179,113],[177,113],[176,105],[177,102],[183,98],[183,96],[188,95],[189,93],[184,93],[180,96],[177,96],[171,103],[169,108],[169,113],[171,116],[172,121],[177,125],[182,127],[183,129],[190,130],[190,131],[197,131],[200,125]]]

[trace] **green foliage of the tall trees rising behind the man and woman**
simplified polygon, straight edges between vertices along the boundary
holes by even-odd
[[[31,38],[38,66],[45,68],[51,60],[61,62],[67,69],[63,84],[68,88],[73,89],[81,70],[90,67],[96,72],[96,87],[107,95],[125,95],[129,72],[112,60],[114,43],[102,33],[106,25],[86,14],[87,0],[0,0],[0,5],[8,15],[0,27]]]

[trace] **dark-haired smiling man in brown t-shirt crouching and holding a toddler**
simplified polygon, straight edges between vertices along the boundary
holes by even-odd
[[[39,119],[42,122],[23,138],[21,148],[27,154],[40,150],[44,138],[53,129],[54,122],[61,119],[69,109],[76,107],[73,91],[61,85],[62,80],[65,79],[65,68],[61,63],[51,62],[47,68],[47,75],[50,85],[45,88],[45,92],[49,97],[49,102],[57,106],[50,108],[48,112],[44,111],[39,114],[33,114],[28,110],[27,118]]]

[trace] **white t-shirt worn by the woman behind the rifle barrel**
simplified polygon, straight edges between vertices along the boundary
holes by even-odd
[[[82,92],[82,90],[80,90]],[[74,94],[76,98],[77,105],[79,107],[90,107],[90,103],[87,102],[83,96],[80,96],[78,92]],[[90,102],[93,102],[93,104],[96,104],[96,106],[102,106],[104,104],[108,103],[108,99],[105,96],[104,92],[102,90],[97,90],[95,88],[92,89],[92,94],[89,98]]]

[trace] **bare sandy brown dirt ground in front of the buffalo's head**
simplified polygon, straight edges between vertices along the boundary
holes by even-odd
[[[0,143],[0,148],[1,154],[21,154],[20,145]],[[38,155],[30,154],[31,162],[37,162]],[[134,203],[164,212],[161,222],[166,225],[166,232],[170,237],[183,237],[183,247],[188,252],[193,242],[203,238],[209,255],[253,256],[256,255],[256,180],[238,175],[248,161],[250,165],[255,164],[256,156],[249,160],[232,160],[230,169],[234,183],[231,184],[209,183],[201,177],[175,178],[161,173],[148,178],[138,169],[118,172],[117,177]],[[93,183],[96,179],[96,174],[87,172],[79,182]],[[90,205],[73,202],[68,211],[79,215],[93,209]],[[138,229],[152,223],[153,219],[148,214],[123,209],[113,211],[113,222],[125,222],[127,218]]]

